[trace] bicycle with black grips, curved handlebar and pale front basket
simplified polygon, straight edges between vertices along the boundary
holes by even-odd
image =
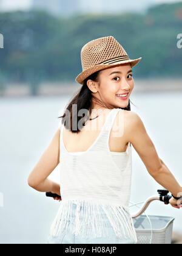
[[[138,244],[171,244],[172,243],[172,230],[174,224],[174,217],[171,216],[158,216],[158,215],[143,215],[145,210],[153,201],[161,201],[164,204],[169,204],[172,196],[169,196],[167,190],[157,190],[157,196],[150,196],[145,202],[138,202],[136,204],[130,202],[131,207],[138,204],[143,206],[138,212],[131,214],[133,224],[138,239]],[[61,197],[58,194],[51,192],[45,193],[47,197]],[[149,222],[147,222],[147,219]],[[149,229],[150,227],[150,229]]]

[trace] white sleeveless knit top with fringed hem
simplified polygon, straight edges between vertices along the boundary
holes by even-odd
[[[133,220],[129,212],[132,176],[131,144],[126,152],[111,152],[109,136],[113,121],[121,108],[113,108],[96,140],[84,152],[68,152],[62,141],[61,127],[59,144],[61,205],[50,228],[50,235],[66,233],[72,205],[76,204],[75,229],[73,234],[86,237],[87,223],[91,223],[95,237],[102,236],[101,208],[106,213],[116,236],[137,241]],[[90,215],[82,211],[86,205]],[[93,226],[92,226],[93,224]],[[95,230],[96,227],[96,230]]]

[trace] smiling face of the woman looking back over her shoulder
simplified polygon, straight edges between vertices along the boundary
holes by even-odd
[[[92,81],[93,82],[93,81]],[[134,87],[130,63],[106,68],[99,72],[99,81],[95,85],[94,96],[111,108],[125,108]],[[122,97],[118,94],[127,94]]]

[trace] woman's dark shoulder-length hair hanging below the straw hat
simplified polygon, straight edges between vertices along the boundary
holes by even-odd
[[[79,125],[79,129],[78,129],[78,122],[80,119],[82,119],[82,121],[83,121],[83,126],[85,125],[87,119],[89,119],[88,116],[86,116],[86,115],[84,117],[78,116],[79,110],[86,109],[87,112],[89,112],[89,115],[91,115],[92,108],[93,108],[92,100],[95,100],[100,105],[103,105],[103,102],[101,102],[98,98],[96,98],[95,96],[92,95],[92,91],[90,91],[89,87],[87,86],[87,80],[89,80],[89,79],[93,80],[94,82],[98,82],[99,72],[100,71],[97,71],[97,72],[91,74],[89,77],[87,77],[84,80],[83,86],[81,87],[81,89],[78,91],[78,93],[76,93],[76,95],[74,96],[72,101],[70,101],[69,104],[67,105],[64,115],[58,117],[58,118],[62,118],[61,123],[62,124],[64,123],[63,125],[65,125],[66,128],[71,130],[72,132],[78,133],[81,130],[80,125]],[[76,104],[76,112],[73,111],[73,108],[72,108],[73,104]],[[103,105],[103,106],[107,107],[106,105]],[[130,99],[129,99],[129,104],[127,105],[127,107],[121,108],[121,109],[130,111]],[[69,115],[66,115],[66,112],[69,113]],[[96,117],[98,117],[98,116],[96,116]],[[93,118],[93,119],[95,119],[95,118]],[[92,119],[90,118],[90,120],[92,120]],[[80,124],[80,122],[79,122],[79,124]]]

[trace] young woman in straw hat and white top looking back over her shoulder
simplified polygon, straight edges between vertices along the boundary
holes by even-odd
[[[129,212],[131,145],[150,176],[174,195],[172,207],[180,208],[182,188],[130,111],[131,68],[140,60],[129,59],[112,36],[82,48],[83,72],[76,77],[82,87],[28,180],[35,190],[61,196],[48,243],[137,242]],[[59,163],[60,184],[47,179]]]

